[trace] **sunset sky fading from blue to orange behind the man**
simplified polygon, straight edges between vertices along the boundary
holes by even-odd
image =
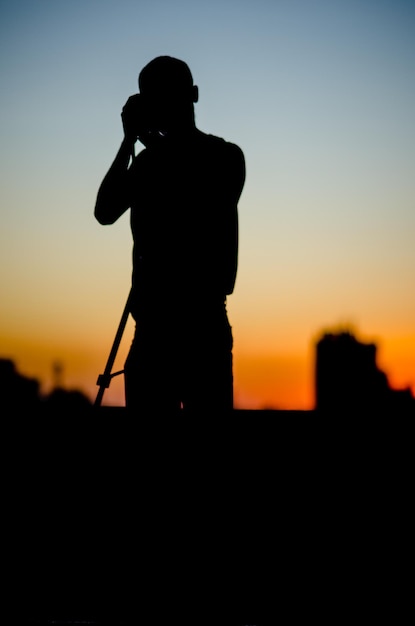
[[[128,212],[99,225],[96,194],[161,54],[246,159],[235,407],[313,408],[315,342],[338,329],[415,394],[413,0],[0,0],[0,358],[45,393],[60,364],[95,398],[132,252]],[[103,404],[124,404],[122,375]]]

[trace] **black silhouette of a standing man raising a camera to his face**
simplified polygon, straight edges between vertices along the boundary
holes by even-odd
[[[126,406],[231,410],[226,298],[237,273],[244,155],[196,128],[198,87],[183,61],[156,57],[138,85],[122,110],[124,139],[95,206],[100,224],[131,208],[136,328],[125,363]],[[130,164],[137,138],[144,149]]]

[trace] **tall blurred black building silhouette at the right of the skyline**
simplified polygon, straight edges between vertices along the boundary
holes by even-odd
[[[376,352],[375,343],[362,343],[349,331],[323,333],[316,343],[316,410],[415,416],[411,390],[391,388]]]

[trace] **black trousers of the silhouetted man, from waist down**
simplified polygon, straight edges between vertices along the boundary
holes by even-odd
[[[233,337],[223,303],[191,313],[141,315],[125,362],[134,412],[233,409]]]

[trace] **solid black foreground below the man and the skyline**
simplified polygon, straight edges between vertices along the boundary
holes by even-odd
[[[6,621],[332,624],[358,600],[368,621],[399,579],[396,623],[413,434],[383,415],[10,415]]]

